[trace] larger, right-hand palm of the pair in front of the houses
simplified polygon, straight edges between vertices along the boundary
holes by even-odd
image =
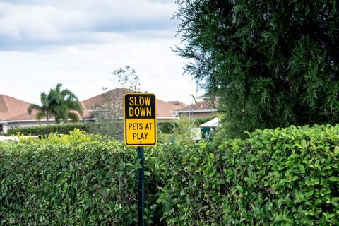
[[[51,112],[55,116],[55,121],[57,124],[61,121],[66,123],[68,119],[78,121],[78,114],[83,114],[83,107],[71,90],[61,90],[61,86],[62,84],[58,83],[57,86],[48,93],[48,102]],[[76,114],[76,112],[78,112],[78,114]]]

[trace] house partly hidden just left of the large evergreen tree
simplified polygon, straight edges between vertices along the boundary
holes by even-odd
[[[172,110],[175,117],[189,117],[193,119],[212,118],[215,117],[217,108],[209,99],[188,105],[179,109]]]

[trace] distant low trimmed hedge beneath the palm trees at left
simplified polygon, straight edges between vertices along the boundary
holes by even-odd
[[[49,126],[30,126],[30,127],[18,127],[8,129],[7,135],[12,136],[17,133],[23,135],[47,135],[49,133],[61,133],[61,134],[69,134],[69,131],[73,129],[80,129],[82,131],[88,131],[87,123],[68,123],[68,124],[54,124]]]

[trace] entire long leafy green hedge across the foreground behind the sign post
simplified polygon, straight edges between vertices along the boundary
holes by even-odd
[[[145,148],[148,225],[338,225],[339,126]],[[136,225],[135,148],[72,132],[0,143],[2,225]]]

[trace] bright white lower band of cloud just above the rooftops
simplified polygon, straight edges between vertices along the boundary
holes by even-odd
[[[39,93],[63,83],[81,100],[112,88],[112,71],[129,65],[141,78],[142,90],[162,100],[189,102],[184,61],[169,45],[173,40],[126,40],[115,44],[86,44],[38,52],[0,52],[1,93],[39,102]],[[25,90],[25,92],[23,92]]]

